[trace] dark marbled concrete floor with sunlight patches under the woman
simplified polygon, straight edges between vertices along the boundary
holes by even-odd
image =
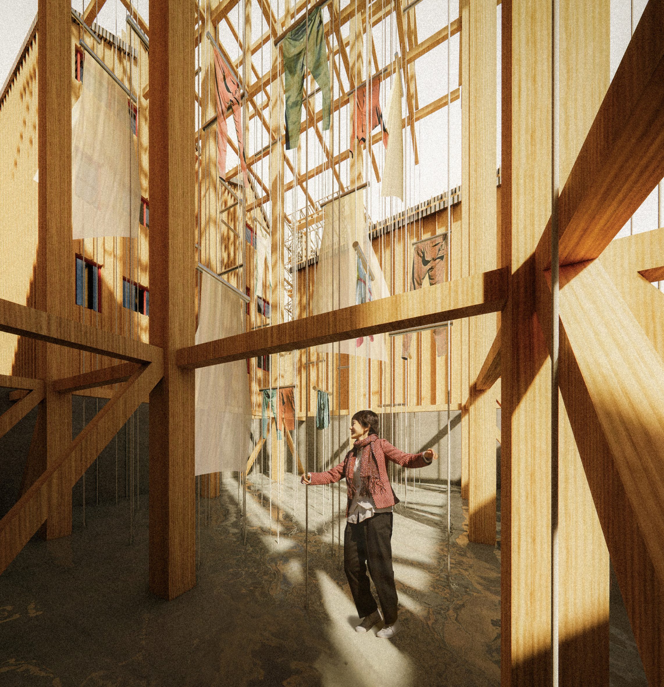
[[[500,684],[500,548],[468,542],[454,488],[449,539],[444,488],[396,490],[392,640],[353,629],[344,491],[311,488],[307,504],[292,475],[280,486],[259,475],[243,499],[229,475],[219,499],[197,502],[198,582],[172,602],[148,591],[146,497],[88,506],[85,528],[77,508],[71,537],[33,539],[0,576],[0,684]],[[645,685],[615,588],[611,621],[612,686]]]

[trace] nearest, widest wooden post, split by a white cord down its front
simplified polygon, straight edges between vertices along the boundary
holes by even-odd
[[[608,85],[608,2],[561,2],[561,185]],[[595,50],[597,53],[595,54]],[[606,59],[606,65],[604,60]],[[537,63],[538,69],[532,69]],[[502,3],[502,685],[551,682],[551,323],[534,251],[551,216],[551,0]],[[560,684],[608,684],[608,556],[560,407]]]

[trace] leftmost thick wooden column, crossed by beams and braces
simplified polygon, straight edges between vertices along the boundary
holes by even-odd
[[[71,8],[65,0],[39,0],[38,43],[38,247],[36,302],[40,310],[73,319],[76,294],[71,248]],[[72,374],[71,352],[38,343],[43,379]],[[39,469],[52,465],[71,443],[71,394],[46,385],[45,422],[38,442]],[[46,539],[71,534],[71,480],[65,475],[58,501],[49,508],[41,533]]]

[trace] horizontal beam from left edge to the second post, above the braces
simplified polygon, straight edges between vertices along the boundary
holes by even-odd
[[[0,299],[0,331],[133,363],[162,360],[162,349]]]

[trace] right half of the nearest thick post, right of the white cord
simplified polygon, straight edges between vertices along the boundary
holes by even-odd
[[[560,3],[560,182],[608,89],[610,0]],[[560,684],[609,684],[609,556],[560,397]]]

